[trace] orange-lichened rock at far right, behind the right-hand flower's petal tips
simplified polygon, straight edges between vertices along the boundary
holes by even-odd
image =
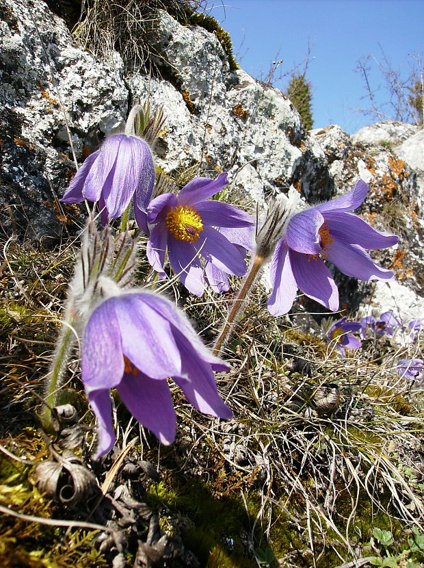
[[[390,138],[384,138],[384,133]],[[421,131],[417,132],[414,125],[380,122],[352,136],[336,125],[315,129],[311,135],[326,153],[337,193],[352,187],[354,179],[366,181],[369,193],[359,214],[376,229],[399,235],[397,246],[371,253],[385,268],[395,272],[395,281],[362,283],[339,274],[342,303],[364,311],[393,309],[404,321],[423,315]],[[399,140],[404,140],[400,146]]]

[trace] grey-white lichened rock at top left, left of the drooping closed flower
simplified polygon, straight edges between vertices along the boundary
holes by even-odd
[[[96,62],[40,0],[4,0],[0,75],[2,224],[16,222],[29,237],[61,235],[71,144],[82,161],[90,129],[109,132],[127,112],[120,57],[114,68]]]

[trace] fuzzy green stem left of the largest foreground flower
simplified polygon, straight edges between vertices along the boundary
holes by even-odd
[[[49,383],[47,384],[46,397],[44,399],[46,406],[44,406],[41,415],[41,422],[46,430],[52,430],[51,409],[57,406],[60,387],[66,374],[68,359],[75,340],[74,323],[71,318],[66,318],[57,339],[56,350],[48,375]]]

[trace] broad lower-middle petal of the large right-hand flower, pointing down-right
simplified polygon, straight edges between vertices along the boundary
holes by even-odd
[[[302,292],[332,311],[339,309],[339,290],[323,261],[295,250],[290,250],[289,255],[293,274]]]

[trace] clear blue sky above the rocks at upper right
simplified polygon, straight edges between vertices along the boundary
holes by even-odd
[[[365,86],[355,68],[360,57],[382,50],[404,77],[424,55],[424,0],[220,0],[209,13],[230,32],[241,68],[266,77],[276,53],[278,74],[302,66],[311,48],[306,77],[313,86],[314,127],[338,124],[353,133],[376,122],[354,109],[367,107]],[[242,44],[243,42],[243,44]],[[384,81],[373,65],[371,86],[384,103]],[[287,79],[274,81],[284,90]]]

